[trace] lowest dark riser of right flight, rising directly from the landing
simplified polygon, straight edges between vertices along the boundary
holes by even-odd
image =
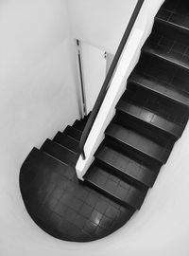
[[[120,204],[123,207],[128,208],[129,210],[139,210],[141,206],[130,206],[129,204],[127,204],[126,202],[120,200],[119,198],[113,196],[111,193],[106,192],[104,190],[102,190],[101,188],[97,187],[94,185],[94,183],[91,183],[88,180],[85,180],[84,183],[86,185],[88,185],[89,187],[91,187],[92,189],[94,189],[96,192],[100,192],[102,194],[104,194],[105,196],[109,197],[110,199],[112,199],[112,201],[114,201],[117,204]]]

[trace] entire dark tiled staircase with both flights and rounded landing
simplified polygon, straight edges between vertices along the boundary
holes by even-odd
[[[74,168],[88,117],[26,157],[21,192],[43,230],[63,240],[92,241],[140,210],[188,120],[188,38],[189,4],[165,1],[84,182]]]

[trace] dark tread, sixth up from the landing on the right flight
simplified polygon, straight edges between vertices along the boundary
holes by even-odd
[[[151,40],[151,37],[152,35],[146,41],[145,46],[143,46],[143,52],[154,55],[155,57],[161,58],[168,63],[179,65],[180,67],[189,70],[188,57],[186,56],[187,58],[183,58],[183,53],[180,52],[179,49],[172,49],[172,46],[175,44],[174,40],[162,39],[162,41],[166,40],[166,42],[162,42],[161,44],[161,40],[159,39],[159,43],[157,44],[157,42],[153,42]],[[180,44],[180,47],[181,46],[187,49],[187,46]]]

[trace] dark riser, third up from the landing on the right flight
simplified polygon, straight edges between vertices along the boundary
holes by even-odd
[[[144,161],[145,165],[151,168],[152,170],[154,170],[154,172],[159,171],[163,165],[163,163],[160,162],[158,159],[155,159],[149,155],[146,155],[145,153],[135,148],[132,148],[128,144],[118,141],[113,137],[109,137],[108,135],[106,135],[106,140],[108,140],[109,145],[111,144],[112,147],[114,147],[115,149],[119,149],[122,152],[125,152],[126,154],[130,155],[131,157],[137,157],[141,161]]]

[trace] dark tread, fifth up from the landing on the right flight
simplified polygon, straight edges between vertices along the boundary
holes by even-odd
[[[173,87],[167,86],[167,84],[163,82],[160,83],[157,80],[154,81],[148,76],[137,75],[134,73],[132,76],[130,76],[129,82],[134,82],[136,85],[142,86],[151,92],[157,93],[171,101],[175,101],[189,107],[189,97]]]

